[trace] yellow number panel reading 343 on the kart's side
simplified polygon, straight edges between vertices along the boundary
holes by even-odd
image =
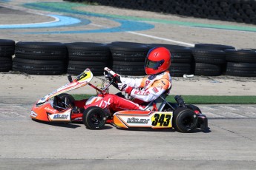
[[[154,127],[172,127],[171,125],[172,112],[165,114],[155,113],[151,117],[152,126]]]

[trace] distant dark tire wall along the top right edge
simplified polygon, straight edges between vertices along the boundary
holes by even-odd
[[[77,0],[66,0],[77,1]],[[256,24],[255,0],[79,0],[106,6]]]

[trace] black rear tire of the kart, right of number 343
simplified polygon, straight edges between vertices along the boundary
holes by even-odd
[[[177,132],[189,133],[197,128],[198,118],[193,110],[180,107],[173,114],[172,124]]]

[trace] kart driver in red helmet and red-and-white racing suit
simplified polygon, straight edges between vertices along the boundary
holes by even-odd
[[[168,68],[171,65],[171,53],[165,47],[154,47],[148,51],[145,58],[145,78],[122,78],[118,89],[133,99],[128,100],[118,95],[105,95],[99,101],[85,105],[85,100],[76,101],[75,106],[87,109],[89,106],[99,106],[114,112],[130,109],[144,109],[146,104],[154,101],[160,95],[171,89],[171,75]],[[143,104],[144,103],[144,104]]]

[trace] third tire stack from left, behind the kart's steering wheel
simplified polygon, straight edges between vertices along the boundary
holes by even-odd
[[[75,42],[66,44],[68,48],[68,74],[79,75],[86,68],[93,75],[103,75],[109,66],[110,50],[107,44]]]

